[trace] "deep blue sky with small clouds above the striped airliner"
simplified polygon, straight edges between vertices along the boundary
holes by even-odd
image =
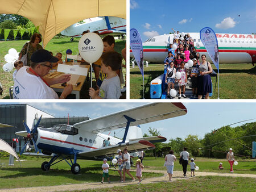
[[[130,28],[136,28],[143,41],[169,34],[172,28],[199,32],[204,27],[216,33],[255,33],[256,1],[130,0]]]

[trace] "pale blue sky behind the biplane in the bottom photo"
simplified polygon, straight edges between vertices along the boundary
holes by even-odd
[[[3,103],[5,104],[5,103]],[[96,118],[113,112],[125,110],[127,108],[144,105],[145,103],[28,103],[42,111],[56,117],[67,116],[89,116]],[[184,139],[187,135],[199,135],[204,137],[205,133],[211,130],[226,126],[242,120],[256,119],[256,102],[193,102],[183,103],[187,107],[188,113],[172,119],[161,120],[158,122],[142,124],[142,132],[148,133],[148,128],[156,128],[162,136],[167,139],[181,137]],[[244,122],[247,123],[247,122]],[[232,127],[240,126],[238,123]],[[118,133],[120,130],[115,131]],[[122,137],[124,131],[120,131],[117,136]],[[111,133],[113,135],[114,132]]]

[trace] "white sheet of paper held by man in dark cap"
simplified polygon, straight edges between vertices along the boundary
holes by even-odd
[[[80,65],[59,64],[57,71],[69,74],[78,74],[80,76],[87,76],[88,73],[88,69]]]

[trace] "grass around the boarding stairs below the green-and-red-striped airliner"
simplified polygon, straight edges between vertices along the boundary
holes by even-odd
[[[216,69],[213,66],[213,69]],[[149,64],[144,68],[144,97],[150,98],[150,82],[163,74],[163,64]],[[220,64],[220,99],[255,99],[256,66],[251,64]],[[217,99],[218,90],[214,91],[216,77],[212,77],[213,97]],[[141,99],[143,79],[139,68],[130,68],[130,98]]]

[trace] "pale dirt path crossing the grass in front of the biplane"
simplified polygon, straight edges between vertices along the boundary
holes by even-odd
[[[135,171],[135,170],[131,170]],[[142,181],[145,183],[154,183],[154,182],[168,182],[168,176],[166,170],[144,170],[144,172],[155,172],[163,173],[162,177],[147,178]],[[189,173],[190,174],[190,173]],[[188,175],[189,175],[188,174]],[[238,173],[213,173],[213,172],[196,172],[196,176],[222,176],[222,177],[251,177],[256,178],[256,174],[238,174]],[[183,177],[183,172],[174,171],[174,176],[172,177],[172,182],[177,180],[189,180],[193,177]],[[106,187],[115,187],[115,186],[126,186],[126,185],[137,185],[138,180],[135,182],[127,181],[125,183],[112,182],[112,183],[80,183],[80,184],[71,184],[71,185],[56,185],[48,187],[27,187],[27,188],[16,188],[16,189],[2,189],[0,191],[73,191],[73,190],[85,190],[85,189],[100,189]]]

